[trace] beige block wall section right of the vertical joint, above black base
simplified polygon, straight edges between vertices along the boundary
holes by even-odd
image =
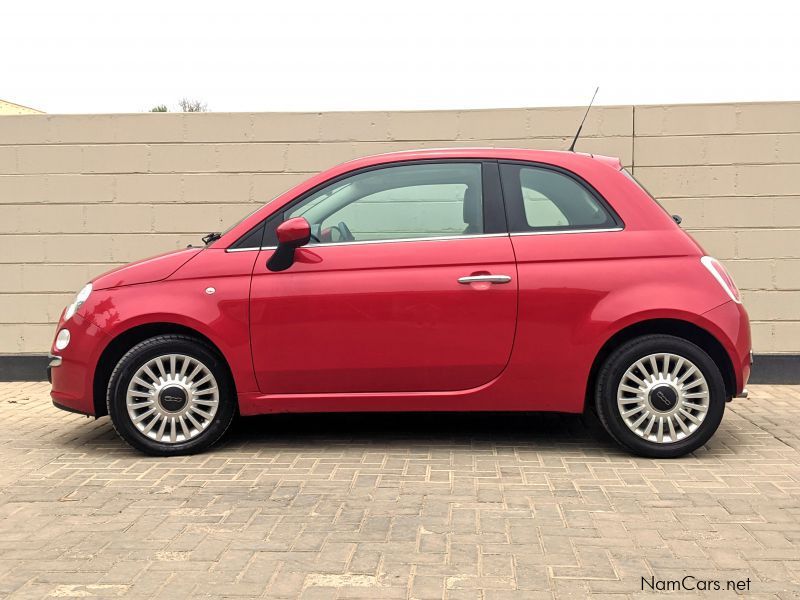
[[[741,288],[758,353],[800,353],[800,103],[634,107],[636,177]]]

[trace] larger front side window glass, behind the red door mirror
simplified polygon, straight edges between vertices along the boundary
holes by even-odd
[[[305,217],[313,243],[474,235],[484,232],[481,164],[426,163],[365,171],[284,212]]]

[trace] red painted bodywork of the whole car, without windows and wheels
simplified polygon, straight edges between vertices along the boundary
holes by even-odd
[[[269,271],[273,250],[228,251],[263,219],[326,181],[403,161],[543,163],[594,187],[624,227],[493,234],[413,243],[298,248]],[[750,330],[700,263],[703,250],[619,161],[568,152],[452,149],[351,161],[316,175],[244,219],[209,247],[98,277],[52,353],[53,398],[95,414],[98,361],[142,325],[205,336],[227,361],[244,415],[272,412],[544,410],[580,412],[603,345],[630,325],[680,320],[711,334],[746,384]],[[458,283],[476,274],[503,285]]]

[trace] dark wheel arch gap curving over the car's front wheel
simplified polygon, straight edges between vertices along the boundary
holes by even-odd
[[[219,346],[215,344],[208,336],[203,335],[196,329],[186,325],[179,325],[177,323],[156,322],[144,323],[135,325],[119,335],[114,337],[103,349],[100,358],[97,360],[97,366],[94,370],[94,378],[92,381],[92,402],[94,404],[94,416],[101,417],[108,414],[106,406],[106,389],[108,388],[108,381],[111,377],[111,372],[114,370],[117,362],[122,356],[130,350],[133,346],[151,337],[163,334],[181,334],[193,337],[206,345],[210,346],[225,365],[228,373],[230,384],[233,388],[234,397],[236,397],[236,380],[231,372],[231,367],[225,354],[220,350]]]

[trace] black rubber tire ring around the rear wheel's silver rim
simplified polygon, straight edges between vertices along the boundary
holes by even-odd
[[[625,424],[617,405],[617,392],[627,369],[637,360],[658,353],[675,354],[691,361],[708,386],[707,412],[696,430],[683,439],[661,443],[645,439],[632,431]],[[702,348],[683,338],[657,334],[630,340],[616,348],[606,359],[597,377],[595,409],[611,437],[634,454],[649,458],[676,458],[697,450],[714,435],[722,421],[726,399],[722,373]]]

